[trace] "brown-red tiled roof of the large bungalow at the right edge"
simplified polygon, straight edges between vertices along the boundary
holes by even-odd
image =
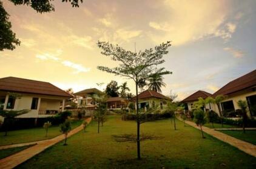
[[[227,83],[214,93],[214,97],[217,95],[229,95],[253,87],[256,87],[256,69]]]

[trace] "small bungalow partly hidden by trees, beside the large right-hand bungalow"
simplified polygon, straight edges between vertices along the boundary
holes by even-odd
[[[192,95],[189,95],[189,97],[185,98],[183,101],[183,103],[186,103],[187,104],[187,108],[189,109],[189,111],[192,110],[192,106],[193,106],[193,103],[195,101],[198,101],[198,98],[203,98],[203,99],[206,99],[207,97],[212,97],[212,94],[208,93],[208,92],[205,92],[205,91],[197,91],[195,92],[194,94]],[[212,109],[212,104],[209,104],[209,105],[206,105],[206,109]]]

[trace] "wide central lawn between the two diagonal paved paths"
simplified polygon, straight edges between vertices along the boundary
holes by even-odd
[[[173,122],[172,122],[173,124]],[[79,132],[48,148],[18,168],[255,168],[256,158],[212,136],[201,138],[200,130],[177,120],[144,123],[141,132],[158,139],[141,142],[141,161],[136,159],[135,142],[116,142],[113,135],[135,134],[134,121],[109,116],[100,133],[92,122]]]

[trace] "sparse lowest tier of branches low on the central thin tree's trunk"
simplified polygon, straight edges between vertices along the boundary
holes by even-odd
[[[134,134],[123,134],[123,135],[112,135],[112,138],[116,142],[136,142],[137,136]],[[152,140],[152,139],[162,139],[163,137],[154,136],[150,134],[141,134],[140,141]]]

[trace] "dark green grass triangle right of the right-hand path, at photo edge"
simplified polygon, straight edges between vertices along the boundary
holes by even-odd
[[[250,142],[251,144],[256,145],[256,130],[246,130],[243,133],[243,130],[218,130],[227,135],[230,135],[234,138],[241,139],[243,141]]]

